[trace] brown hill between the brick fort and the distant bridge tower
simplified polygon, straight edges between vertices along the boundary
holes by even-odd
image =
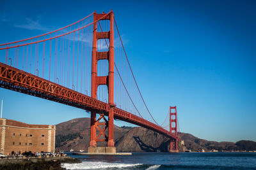
[[[114,125],[116,152],[168,152],[170,139],[143,127],[118,127]],[[56,125],[56,150],[79,151],[88,149],[90,143],[90,118],[75,118]],[[98,146],[106,146],[106,142]],[[182,150],[184,151],[184,150]]]

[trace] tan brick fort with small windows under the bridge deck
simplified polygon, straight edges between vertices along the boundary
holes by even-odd
[[[54,152],[55,125],[31,125],[0,118],[0,136],[1,152],[4,154]]]

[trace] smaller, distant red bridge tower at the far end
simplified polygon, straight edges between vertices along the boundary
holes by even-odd
[[[175,110],[175,112],[172,112],[172,110]],[[170,141],[170,152],[179,152],[177,131],[177,106],[170,106],[170,132],[175,133],[175,139],[171,139]]]

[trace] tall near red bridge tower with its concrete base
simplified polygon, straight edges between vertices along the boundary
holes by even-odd
[[[88,148],[89,153],[115,153],[115,143],[114,143],[114,115],[113,111],[115,108],[114,104],[114,15],[111,11],[106,17],[106,14],[94,13],[93,15],[93,48],[92,48],[92,97],[97,99],[97,89],[99,85],[108,86],[108,113],[99,113],[100,117],[96,120],[96,111],[92,111],[91,114],[91,139],[90,146]],[[97,32],[97,20],[109,20],[110,28],[107,32]],[[98,39],[109,39],[109,51],[108,52],[98,52],[97,42]],[[97,76],[97,66],[98,60],[108,60],[109,63],[109,74],[108,76]],[[108,120],[104,116],[108,116]],[[105,122],[99,122],[104,120]],[[105,125],[104,129],[101,129],[102,125]],[[104,133],[108,128],[108,136]],[[98,129],[99,134],[96,134],[96,129]],[[97,135],[97,136],[96,136]],[[104,139],[99,139],[99,138]],[[97,141],[107,141],[107,147],[97,147]]]

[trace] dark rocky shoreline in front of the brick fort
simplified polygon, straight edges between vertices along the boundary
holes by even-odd
[[[51,157],[51,158],[30,158],[30,159],[1,159],[0,169],[2,170],[60,170],[61,163],[80,163],[78,159],[71,157]]]

